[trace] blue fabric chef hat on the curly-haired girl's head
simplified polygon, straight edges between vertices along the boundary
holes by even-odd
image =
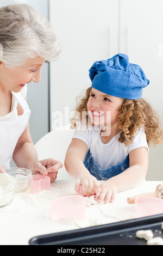
[[[140,99],[143,88],[149,84],[141,67],[129,63],[128,56],[122,53],[95,62],[89,72],[92,88],[124,99]]]

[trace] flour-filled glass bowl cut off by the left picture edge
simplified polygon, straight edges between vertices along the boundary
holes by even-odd
[[[16,187],[16,179],[8,174],[0,174],[0,207],[11,204]]]

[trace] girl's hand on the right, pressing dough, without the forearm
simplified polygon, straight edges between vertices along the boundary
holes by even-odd
[[[114,202],[117,195],[117,187],[115,184],[109,184],[108,181],[105,181],[103,184],[101,184],[95,194],[95,200],[98,201],[98,203],[102,203],[104,200],[104,203],[112,203]]]

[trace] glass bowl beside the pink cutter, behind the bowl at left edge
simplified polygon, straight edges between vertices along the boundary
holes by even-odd
[[[10,169],[4,169],[5,172],[16,179],[15,192],[26,191],[30,187],[30,179],[32,172],[28,169],[11,167]]]

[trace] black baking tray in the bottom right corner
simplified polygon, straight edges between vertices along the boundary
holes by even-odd
[[[60,233],[41,235],[29,240],[29,245],[147,245],[136,237],[137,230],[151,229],[154,237],[163,238],[163,214],[133,220],[98,225]]]

